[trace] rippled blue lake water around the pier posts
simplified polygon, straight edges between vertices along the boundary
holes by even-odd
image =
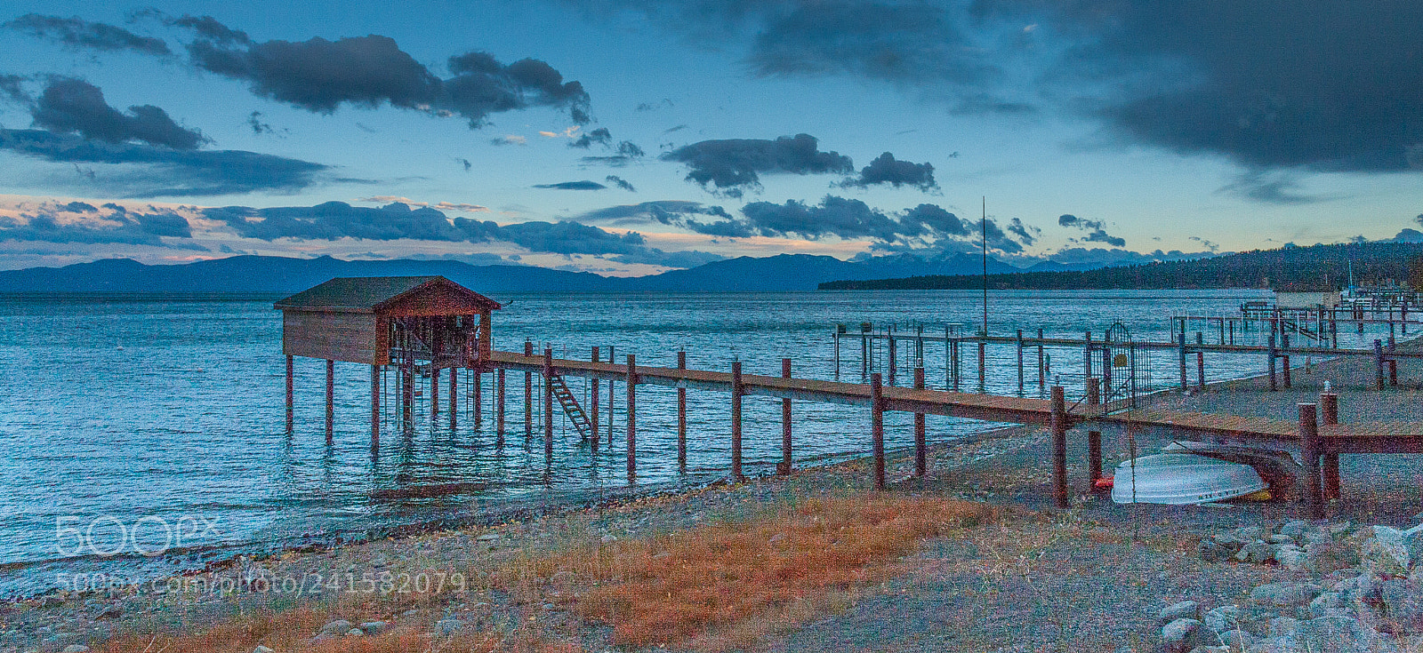
[[[995,334],[1016,329],[1049,336],[1099,334],[1116,322],[1137,339],[1164,340],[1171,314],[1231,314],[1258,292],[1059,292],[992,296]],[[509,374],[508,435],[495,445],[485,407],[482,428],[465,413],[455,431],[423,417],[410,437],[369,432],[370,368],[336,366],[336,438],[324,440],[324,364],[296,360],[296,431],[285,432],[280,314],[276,297],[0,296],[0,595],[68,585],[74,573],[134,578],[201,566],[233,552],[272,551],[310,539],[509,506],[568,502],[625,485],[620,431],[596,457],[555,424],[555,474],[544,474],[542,444],[522,425],[522,378]],[[495,347],[525,339],[558,357],[586,359],[592,346],[618,360],[675,366],[687,351],[694,368],[778,374],[794,359],[800,377],[832,378],[832,326],[859,322],[926,323],[980,319],[973,292],[815,292],[777,294],[515,294],[494,317]],[[975,327],[969,327],[975,329]],[[928,333],[942,334],[931,326]],[[1252,334],[1254,336],[1254,334]],[[1346,344],[1352,334],[1342,339]],[[1210,337],[1210,336],[1208,336]],[[904,346],[901,359],[912,356]],[[859,381],[859,347],[842,341],[842,380]],[[976,390],[965,350],[965,390]],[[1069,397],[1080,394],[1081,351],[1053,351]],[[926,346],[929,384],[943,387],[942,344]],[[1015,394],[1013,347],[989,347],[989,391]],[[1037,393],[1036,353],[1029,393]],[[1207,357],[1211,378],[1254,374],[1257,357]],[[1151,361],[1153,383],[1175,383],[1170,353]],[[901,376],[901,384],[911,374]],[[582,380],[569,378],[586,401]],[[606,384],[603,386],[606,400]],[[623,428],[622,384],[615,421]],[[485,393],[485,401],[492,393]],[[468,405],[461,410],[468,411]],[[780,458],[780,401],[746,400],[748,472]],[[689,472],[675,460],[676,393],[638,394],[638,482],[704,482],[729,467],[729,400],[689,393]],[[606,424],[606,408],[603,410]],[[912,445],[912,415],[887,414],[891,450]],[[932,441],[983,423],[928,418]],[[538,431],[535,431],[536,434]],[[855,407],[795,404],[797,465],[862,455],[868,415]],[[421,491],[420,488],[425,488]],[[437,488],[437,491],[430,491]],[[148,553],[148,555],[145,555]]]

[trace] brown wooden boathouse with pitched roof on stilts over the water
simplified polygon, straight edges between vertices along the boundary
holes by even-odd
[[[491,319],[501,304],[443,276],[339,277],[273,304],[282,312],[286,420],[292,430],[292,359],[326,360],[326,432],[332,435],[334,363],[371,366],[371,430],[379,432],[380,373],[397,366],[408,417],[416,368],[433,378],[490,363]],[[451,411],[451,417],[453,417]]]

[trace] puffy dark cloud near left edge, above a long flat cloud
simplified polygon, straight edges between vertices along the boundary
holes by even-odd
[[[185,129],[154,107],[129,107],[122,114],[104,101],[104,91],[83,80],[54,78],[36,100],[34,124],[53,132],[77,132],[104,142],[142,141],[172,149],[198,149],[208,139],[198,129]]]

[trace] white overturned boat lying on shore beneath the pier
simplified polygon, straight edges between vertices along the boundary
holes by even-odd
[[[1269,489],[1254,467],[1208,455],[1167,452],[1123,461],[1111,482],[1117,504],[1192,505]]]

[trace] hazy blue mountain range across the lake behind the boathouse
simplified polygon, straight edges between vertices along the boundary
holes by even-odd
[[[980,256],[956,255],[925,260],[915,256],[877,256],[847,262],[834,256],[741,256],[686,270],[642,277],[605,277],[588,272],[457,260],[340,260],[330,256],[232,256],[185,265],[144,265],[105,259],[64,267],[0,272],[0,292],[98,293],[295,293],[337,276],[443,275],[481,293],[522,292],[716,292],[814,290],[834,279],[882,279],[906,275],[979,273]],[[989,259],[989,272],[1015,272]]]

